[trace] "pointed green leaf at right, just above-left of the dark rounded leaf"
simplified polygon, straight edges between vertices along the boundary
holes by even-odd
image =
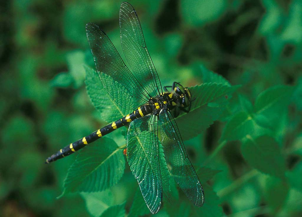
[[[221,141],[239,140],[247,134],[251,134],[253,131],[254,123],[252,117],[246,112],[239,112],[226,123],[222,132]]]

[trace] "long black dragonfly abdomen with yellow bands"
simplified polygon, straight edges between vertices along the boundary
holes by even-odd
[[[85,147],[89,143],[94,142],[95,140],[101,138],[102,136],[107,135],[108,133],[111,133],[115,129],[118,129],[124,125],[129,124],[131,121],[146,116],[150,113],[152,113],[153,107],[149,104],[143,105],[141,107],[138,107],[136,110],[134,110],[132,113],[124,116],[123,118],[112,122],[111,124],[108,124],[104,126],[101,129],[96,130],[95,132],[89,134],[88,136],[83,137],[82,139],[79,139],[76,142],[70,143],[66,147],[60,149],[55,154],[51,155],[49,158],[46,159],[46,163],[50,163],[53,161],[56,161],[60,158],[64,158],[81,148]]]

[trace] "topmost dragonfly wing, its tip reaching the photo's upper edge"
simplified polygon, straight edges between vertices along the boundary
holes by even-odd
[[[140,86],[150,96],[162,93],[162,87],[146,47],[136,11],[128,2],[120,5],[120,40],[132,71]]]

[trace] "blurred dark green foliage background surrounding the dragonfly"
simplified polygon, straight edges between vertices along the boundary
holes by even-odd
[[[156,215],[301,216],[302,1],[129,2],[162,84],[241,85],[227,100],[177,120],[204,187],[204,206],[191,206],[175,186],[171,203],[165,202]],[[108,107],[98,107],[88,97],[104,90],[87,76],[94,63],[85,24],[98,24],[123,57],[120,3],[1,2],[1,216],[151,215],[122,155],[122,165],[111,165],[117,170],[114,181],[104,177],[102,186],[92,186],[103,191],[60,199],[56,197],[66,187],[64,179],[77,164],[77,154],[43,164],[53,152],[112,118],[104,112]],[[124,146],[124,135],[121,129],[108,137]],[[104,150],[95,156],[100,162],[105,150],[116,146],[108,141],[95,142],[90,150]],[[90,152],[81,152],[77,160]],[[66,180],[72,175],[69,171]]]

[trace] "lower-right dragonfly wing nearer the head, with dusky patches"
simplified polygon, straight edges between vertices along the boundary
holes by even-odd
[[[174,180],[196,206],[204,203],[204,192],[198,176],[188,158],[177,124],[172,114],[162,110],[159,114],[160,136],[165,159]]]

